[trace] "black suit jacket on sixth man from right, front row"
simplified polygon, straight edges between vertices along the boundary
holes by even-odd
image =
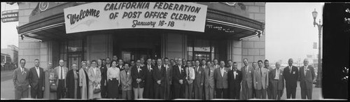
[[[240,89],[241,79],[242,79],[241,71],[239,71],[238,69],[236,70],[236,78],[233,70],[228,71],[228,89],[232,90],[235,87]]]

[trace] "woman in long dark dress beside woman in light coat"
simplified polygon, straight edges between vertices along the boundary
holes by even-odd
[[[66,75],[66,95],[68,99],[81,99],[78,66],[74,63],[71,68]]]

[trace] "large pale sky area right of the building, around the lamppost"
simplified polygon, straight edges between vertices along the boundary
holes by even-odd
[[[313,43],[318,43],[318,29],[314,27],[312,12],[316,8],[321,19],[324,3],[266,3],[265,58],[270,62],[289,58],[302,62],[307,54],[318,54]]]

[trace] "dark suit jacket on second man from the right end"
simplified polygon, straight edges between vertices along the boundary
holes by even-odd
[[[283,69],[283,78],[286,80],[286,87],[297,87],[297,78],[299,77],[299,71],[296,66],[292,66],[292,72],[290,73],[289,66]]]

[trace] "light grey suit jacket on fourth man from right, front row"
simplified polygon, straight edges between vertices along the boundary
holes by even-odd
[[[267,89],[269,86],[269,70],[266,68],[256,68],[253,73],[253,82],[254,89]]]

